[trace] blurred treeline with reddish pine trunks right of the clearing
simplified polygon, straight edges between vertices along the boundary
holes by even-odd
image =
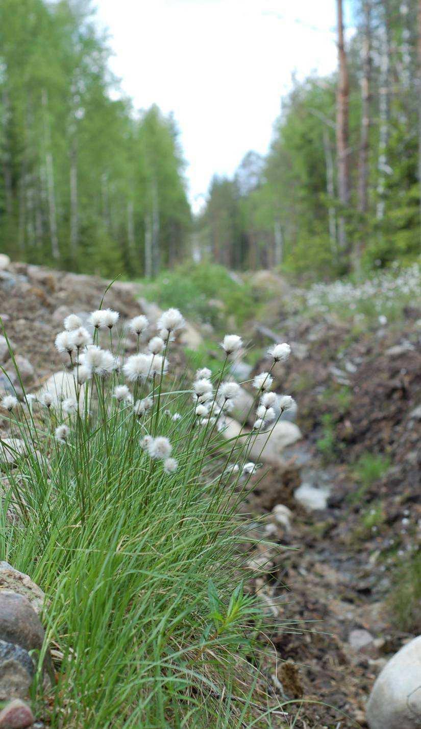
[[[334,276],[420,253],[421,0],[355,0],[338,69],[296,82],[267,157],[214,178],[200,248],[234,268]]]

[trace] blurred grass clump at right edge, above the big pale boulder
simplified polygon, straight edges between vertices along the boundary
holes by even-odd
[[[421,620],[421,555],[410,555],[396,569],[389,607],[401,631],[417,632]]]

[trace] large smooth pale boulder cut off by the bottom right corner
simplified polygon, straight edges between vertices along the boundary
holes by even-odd
[[[421,727],[421,636],[404,645],[383,668],[366,714],[370,729]]]

